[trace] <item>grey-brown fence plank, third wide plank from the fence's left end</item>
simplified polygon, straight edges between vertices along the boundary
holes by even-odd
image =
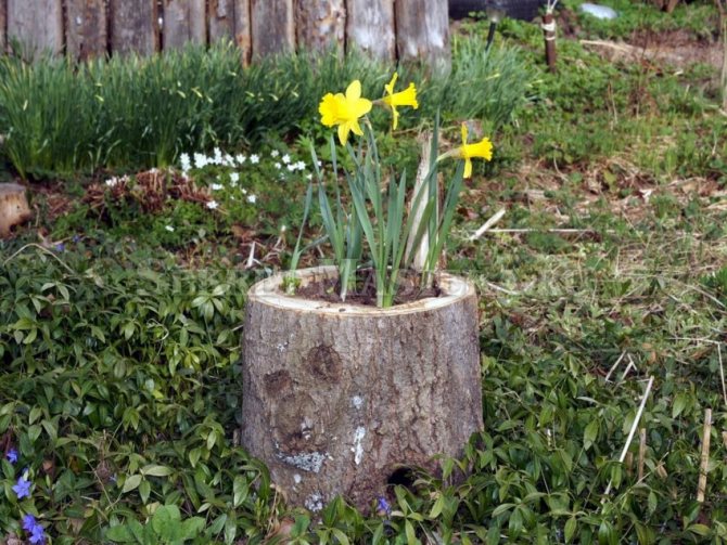
[[[156,0],[110,0],[110,5],[114,53],[136,51],[149,55],[158,51]]]

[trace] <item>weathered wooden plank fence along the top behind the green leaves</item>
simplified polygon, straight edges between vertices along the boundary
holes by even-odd
[[[75,59],[234,40],[243,63],[298,49],[449,59],[447,0],[0,0],[0,49]]]

